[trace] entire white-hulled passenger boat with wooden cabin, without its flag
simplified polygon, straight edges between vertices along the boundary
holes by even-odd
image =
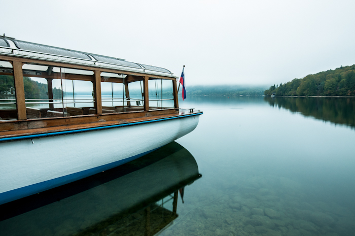
[[[203,114],[179,108],[169,70],[5,35],[0,78],[0,205],[137,159]]]

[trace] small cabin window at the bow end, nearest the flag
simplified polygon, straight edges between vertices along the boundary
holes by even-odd
[[[171,80],[149,79],[149,109],[166,109],[174,107]]]

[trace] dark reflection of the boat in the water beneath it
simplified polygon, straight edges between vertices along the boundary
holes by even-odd
[[[179,189],[200,178],[173,142],[110,171],[0,206],[1,235],[153,235],[177,217]]]

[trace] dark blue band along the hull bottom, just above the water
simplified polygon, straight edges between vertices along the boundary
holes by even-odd
[[[13,200],[25,197],[25,196],[29,196],[29,195],[32,195],[35,193],[46,191],[51,188],[55,188],[55,187],[58,187],[58,186],[61,186],[64,184],[68,184],[70,182],[74,182],[74,181],[95,175],[95,174],[103,172],[103,171],[107,171],[111,168],[114,168],[116,166],[122,165],[122,164],[132,161],[134,159],[137,159],[141,156],[144,156],[144,155],[146,155],[150,152],[153,152],[159,148],[156,148],[156,149],[153,149],[148,152],[144,152],[144,153],[132,156],[132,157],[128,157],[123,160],[119,160],[119,161],[115,161],[115,162],[112,162],[109,164],[97,166],[97,167],[91,168],[89,170],[81,171],[78,173],[62,176],[62,177],[55,178],[52,180],[47,180],[47,181],[44,181],[41,183],[32,184],[32,185],[28,185],[28,186],[25,186],[22,188],[18,188],[18,189],[14,189],[14,190],[0,193],[0,205],[2,205],[4,203],[8,203],[9,201],[13,201]]]

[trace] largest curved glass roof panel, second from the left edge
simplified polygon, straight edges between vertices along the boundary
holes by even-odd
[[[34,43],[29,43],[29,42],[24,42],[19,40],[13,40],[13,41],[15,42],[16,46],[19,49],[91,60],[91,58],[88,55],[81,52],[72,51],[69,49],[51,47],[51,46],[46,46],[41,44],[34,44]]]

